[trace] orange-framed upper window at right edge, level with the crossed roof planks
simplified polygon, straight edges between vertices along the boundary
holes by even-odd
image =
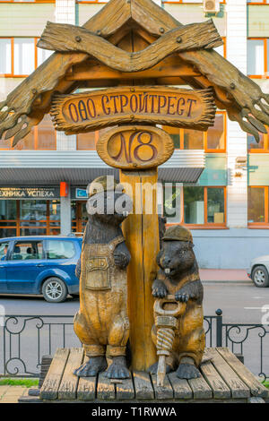
[[[269,39],[247,39],[247,74],[253,78],[268,77]]]

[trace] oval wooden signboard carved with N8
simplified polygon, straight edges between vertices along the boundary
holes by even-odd
[[[127,125],[103,134],[96,150],[110,167],[146,169],[167,161],[174,151],[174,143],[168,133],[157,127]]]

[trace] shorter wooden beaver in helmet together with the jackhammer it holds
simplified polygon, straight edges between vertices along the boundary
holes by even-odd
[[[152,295],[158,298],[154,305],[152,339],[157,354],[166,355],[166,372],[177,369],[179,378],[192,379],[201,375],[198,367],[204,353],[203,286],[193,252],[193,238],[187,228],[176,225],[166,230],[162,241],[157,256],[160,271],[152,285]],[[175,305],[175,300],[182,306]],[[160,363],[163,365],[163,358]],[[160,374],[163,373],[161,366],[159,369]],[[149,371],[157,374],[158,363]]]

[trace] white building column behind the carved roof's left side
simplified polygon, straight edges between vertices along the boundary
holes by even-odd
[[[75,24],[75,0],[56,0],[56,22]],[[76,136],[56,132],[56,150],[76,150]]]

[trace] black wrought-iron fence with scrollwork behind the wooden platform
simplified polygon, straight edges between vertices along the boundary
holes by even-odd
[[[268,327],[269,328],[269,327]],[[223,323],[222,312],[204,316],[206,347],[229,347],[261,380],[269,378],[269,329],[263,324]],[[6,315],[0,328],[0,374],[39,376],[42,356],[81,347],[70,315]]]

